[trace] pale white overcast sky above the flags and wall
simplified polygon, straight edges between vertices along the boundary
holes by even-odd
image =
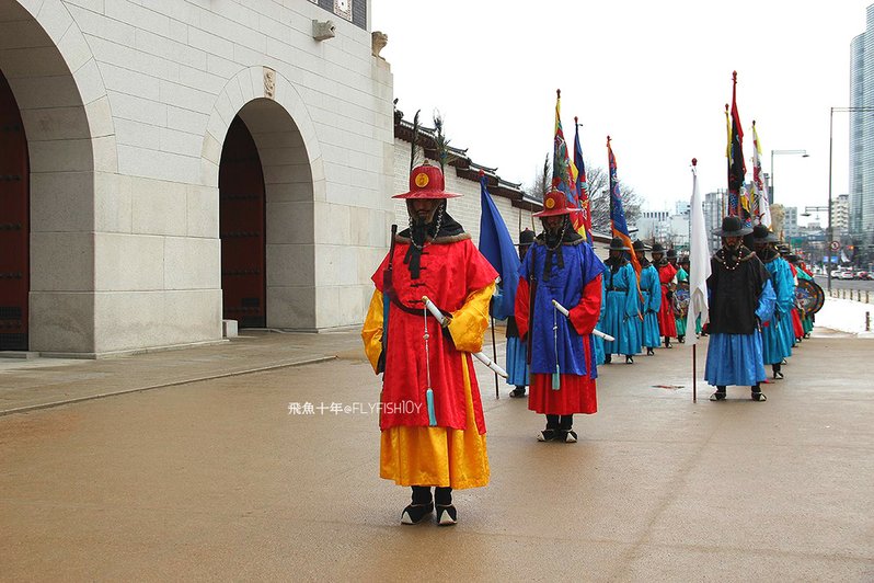
[[[382,56],[407,119],[421,108],[432,125],[439,110],[452,146],[528,185],[552,150],[560,88],[568,144],[576,115],[586,162],[606,167],[610,135],[619,178],[649,209],[690,197],[692,158],[702,192],[726,187],[737,70],[745,158],[754,119],[764,172],[771,150],[809,153],[774,155],[775,202],[801,213],[828,202],[829,107],[849,105],[850,43],[872,3],[372,0],[372,28],[389,35]],[[836,197],[848,192],[848,126],[835,114]]]

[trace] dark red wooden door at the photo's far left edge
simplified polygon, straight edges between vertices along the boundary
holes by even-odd
[[[27,138],[0,72],[0,351],[27,350],[30,195]]]

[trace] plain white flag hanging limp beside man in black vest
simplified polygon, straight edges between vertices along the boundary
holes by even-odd
[[[691,235],[689,239],[689,311],[686,313],[686,330],[695,330],[695,320],[701,316],[701,325],[710,321],[708,311],[708,277],[710,277],[710,249],[704,231],[704,207],[698,192],[698,160],[692,159],[692,202],[689,205]],[[687,344],[697,338],[687,334]]]

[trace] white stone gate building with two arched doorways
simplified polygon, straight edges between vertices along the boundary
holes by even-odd
[[[123,4],[0,0],[0,351],[360,323],[393,175],[366,19],[323,45],[319,3]]]

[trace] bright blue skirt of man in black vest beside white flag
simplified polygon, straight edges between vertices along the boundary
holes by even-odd
[[[704,379],[714,387],[751,387],[764,380],[761,335],[711,334]]]

